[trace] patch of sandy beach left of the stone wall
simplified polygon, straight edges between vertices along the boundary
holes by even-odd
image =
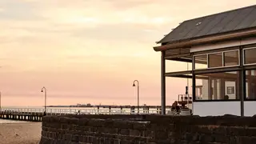
[[[38,144],[42,122],[0,123],[0,144]]]

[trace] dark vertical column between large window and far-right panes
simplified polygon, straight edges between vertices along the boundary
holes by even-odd
[[[245,114],[244,114],[244,98],[246,97],[246,71],[244,70],[244,66],[243,66],[243,50],[242,50],[242,46],[240,47],[240,67],[241,67],[241,70],[240,70],[240,103],[241,103],[241,117],[244,117]]]

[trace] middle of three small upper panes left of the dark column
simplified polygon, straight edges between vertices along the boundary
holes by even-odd
[[[220,67],[222,66],[222,53],[209,54],[209,67]]]

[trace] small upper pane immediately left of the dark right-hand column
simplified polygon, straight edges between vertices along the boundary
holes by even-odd
[[[239,63],[238,50],[224,52],[224,66],[236,66]]]

